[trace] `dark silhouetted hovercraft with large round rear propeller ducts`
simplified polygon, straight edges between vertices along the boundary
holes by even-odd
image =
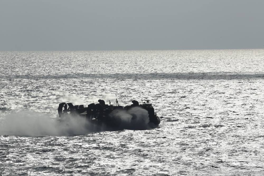
[[[83,105],[73,105],[70,102],[64,102],[60,103],[58,107],[58,113],[59,117],[63,119],[64,117],[67,117],[69,115],[71,116],[81,116],[86,118],[87,122],[96,124],[97,126],[106,126],[111,129],[122,129],[124,127],[121,127],[121,118],[116,117],[114,112],[117,111],[124,111],[129,112],[132,108],[140,108],[147,110],[148,112],[148,118],[149,122],[145,125],[148,126],[148,128],[156,128],[158,127],[159,123],[161,122],[160,118],[157,116],[157,113],[154,112],[154,108],[151,103],[149,103],[149,100],[144,100],[146,102],[143,102],[142,104],[139,104],[138,101],[133,100],[131,105],[128,106],[120,106],[118,104],[118,101],[116,101],[111,104],[109,101],[109,105],[105,104],[104,100],[99,99],[98,103],[91,103],[88,105],[88,107],[84,107]],[[134,109],[135,110],[135,109]],[[136,119],[136,114],[132,113],[132,120]],[[144,125],[144,124],[143,124]],[[142,127],[139,127],[139,129],[143,129]]]

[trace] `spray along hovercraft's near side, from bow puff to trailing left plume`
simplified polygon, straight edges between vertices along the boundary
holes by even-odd
[[[117,129],[150,129],[148,111],[141,108],[131,108],[129,111],[115,110],[110,116],[120,119],[121,124]],[[42,115],[39,112],[26,111],[5,115],[1,125],[0,135],[15,136],[69,136],[109,130],[100,125],[89,123],[85,118],[79,116],[58,119]]]

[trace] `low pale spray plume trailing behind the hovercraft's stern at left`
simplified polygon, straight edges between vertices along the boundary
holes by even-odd
[[[92,132],[87,128],[85,119],[69,117],[59,121],[39,112],[21,111],[7,114],[1,124],[0,135],[16,136],[67,136]]]

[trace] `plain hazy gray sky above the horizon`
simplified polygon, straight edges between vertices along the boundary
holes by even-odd
[[[264,48],[263,0],[0,0],[0,51]]]

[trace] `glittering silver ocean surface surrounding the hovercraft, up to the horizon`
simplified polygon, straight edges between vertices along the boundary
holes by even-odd
[[[263,49],[1,51],[0,73],[0,175],[264,175]],[[149,99],[159,127],[58,121],[116,98]]]

